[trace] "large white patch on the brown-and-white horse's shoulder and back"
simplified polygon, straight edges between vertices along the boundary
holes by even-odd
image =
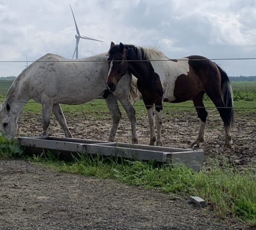
[[[189,59],[180,58],[175,62],[166,58],[164,61],[151,61],[151,65],[154,68],[154,72],[160,77],[163,87],[163,98],[167,98],[169,102],[174,101],[175,81],[180,75],[188,75]]]

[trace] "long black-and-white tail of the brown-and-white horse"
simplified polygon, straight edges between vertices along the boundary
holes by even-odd
[[[216,63],[215,65],[218,67],[218,70],[221,72],[221,94],[224,101],[225,114],[227,115],[227,122],[224,124],[225,126],[230,126],[230,128],[234,124],[234,101],[233,101],[233,92],[230,84],[230,80],[227,76],[227,73],[221,69]]]

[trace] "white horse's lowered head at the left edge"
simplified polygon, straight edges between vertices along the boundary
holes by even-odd
[[[0,104],[0,130],[11,138],[17,134],[17,118],[11,111],[11,105],[7,102]]]

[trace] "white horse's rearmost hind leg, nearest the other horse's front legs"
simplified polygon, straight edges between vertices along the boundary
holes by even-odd
[[[132,144],[138,144],[138,137],[136,132],[136,116],[135,116],[135,109],[131,105],[131,102],[129,100],[129,97],[125,98],[118,98],[120,103],[122,104],[123,108],[125,109],[125,112],[128,115],[128,118],[131,122],[131,143]]]

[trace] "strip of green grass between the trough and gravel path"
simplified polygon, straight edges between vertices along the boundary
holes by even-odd
[[[91,158],[82,155],[73,162],[58,161],[47,152],[32,158],[33,162],[58,172],[78,173],[175,193],[181,196],[200,196],[214,209],[216,216],[238,218],[256,226],[256,174],[251,170],[240,173],[226,163],[207,172],[194,173],[182,166],[154,162]]]

